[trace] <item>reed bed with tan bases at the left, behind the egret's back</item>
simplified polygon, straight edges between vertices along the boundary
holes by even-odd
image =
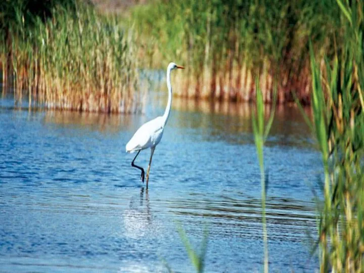
[[[16,99],[27,96],[29,105],[36,100],[50,109],[142,110],[133,37],[116,16],[102,16],[81,1],[53,7],[48,19],[29,19],[21,5],[11,12],[0,59],[4,85],[13,78]]]

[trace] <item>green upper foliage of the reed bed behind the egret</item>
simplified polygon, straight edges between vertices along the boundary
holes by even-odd
[[[326,6],[334,3],[333,0],[325,2]],[[192,51],[188,53],[192,54],[191,64],[198,66],[205,54],[209,62],[213,57],[224,60],[229,51],[239,47],[238,51],[244,56],[239,56],[237,61],[258,64],[265,56],[279,61],[285,53],[299,50],[301,39],[308,40],[307,34],[323,39],[327,31],[333,31],[333,16],[338,9],[331,7],[328,13],[315,18],[314,13],[321,8],[325,8],[322,1],[314,0],[152,1],[147,6],[135,8],[133,19],[140,33],[157,39],[165,57],[180,59],[183,52]],[[295,38],[300,40],[294,41]],[[294,42],[297,43],[292,44]]]

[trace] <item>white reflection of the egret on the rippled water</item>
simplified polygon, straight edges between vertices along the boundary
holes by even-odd
[[[135,196],[131,198],[129,209],[124,211],[122,219],[126,237],[140,238],[147,235],[152,225],[148,190],[142,187],[139,200]]]

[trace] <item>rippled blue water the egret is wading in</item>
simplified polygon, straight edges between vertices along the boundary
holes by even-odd
[[[206,272],[261,271],[250,107],[173,101],[146,191],[125,144],[164,101],[109,116],[0,100],[0,271],[194,271],[178,225],[196,249],[208,231]],[[278,109],[265,153],[270,269],[311,272],[321,160],[296,109]]]

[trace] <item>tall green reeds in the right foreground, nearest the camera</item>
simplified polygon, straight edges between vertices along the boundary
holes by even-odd
[[[313,128],[323,165],[320,271],[364,270],[364,4],[337,0],[344,47],[325,62],[310,49]],[[317,58],[322,58],[320,55]]]

